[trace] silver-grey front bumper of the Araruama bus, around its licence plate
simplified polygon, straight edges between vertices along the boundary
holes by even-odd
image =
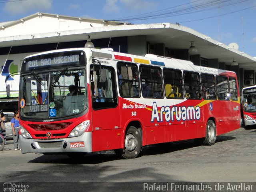
[[[70,142],[84,142],[84,147],[71,148]],[[81,136],[61,139],[26,139],[19,137],[22,153],[68,153],[92,152],[92,132],[84,132]]]

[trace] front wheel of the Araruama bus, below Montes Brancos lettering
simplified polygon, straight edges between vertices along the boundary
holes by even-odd
[[[121,157],[125,159],[136,158],[142,149],[142,131],[141,128],[130,126],[124,138],[124,150],[121,152]]]

